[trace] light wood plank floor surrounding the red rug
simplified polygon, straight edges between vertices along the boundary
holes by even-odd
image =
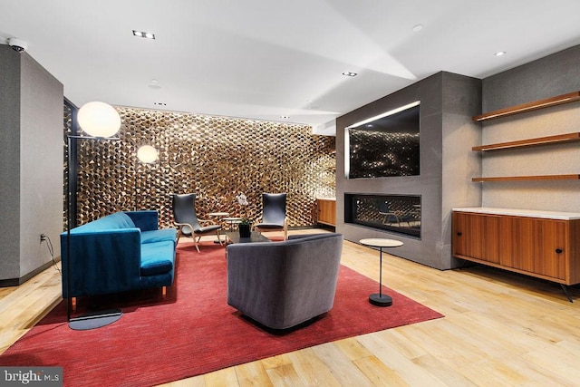
[[[378,280],[375,250],[345,242],[343,265]],[[383,259],[383,282],[445,317],[165,386],[580,385],[576,288],[572,304],[558,285],[526,276],[484,266],[439,271],[395,256]],[[60,291],[53,268],[0,289],[0,352],[60,300]]]

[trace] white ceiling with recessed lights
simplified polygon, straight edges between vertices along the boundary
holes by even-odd
[[[78,106],[324,127],[433,73],[485,78],[580,44],[579,21],[580,0],[0,0],[0,43],[26,41]]]

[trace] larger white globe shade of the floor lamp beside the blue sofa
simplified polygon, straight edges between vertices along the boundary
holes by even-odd
[[[81,129],[92,137],[111,137],[121,128],[121,117],[105,102],[88,102],[77,114]]]

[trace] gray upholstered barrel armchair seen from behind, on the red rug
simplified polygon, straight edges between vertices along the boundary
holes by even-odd
[[[333,307],[343,249],[336,233],[227,247],[227,304],[269,328],[304,323]]]

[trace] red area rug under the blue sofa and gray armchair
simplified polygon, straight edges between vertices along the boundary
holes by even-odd
[[[179,244],[165,298],[153,289],[88,300],[123,311],[118,322],[92,331],[69,329],[63,302],[0,355],[0,365],[62,366],[66,386],[147,386],[442,317],[386,287],[393,305],[370,305],[378,284],[341,266],[330,312],[301,329],[268,332],[227,305],[224,247],[208,242],[200,250]]]

